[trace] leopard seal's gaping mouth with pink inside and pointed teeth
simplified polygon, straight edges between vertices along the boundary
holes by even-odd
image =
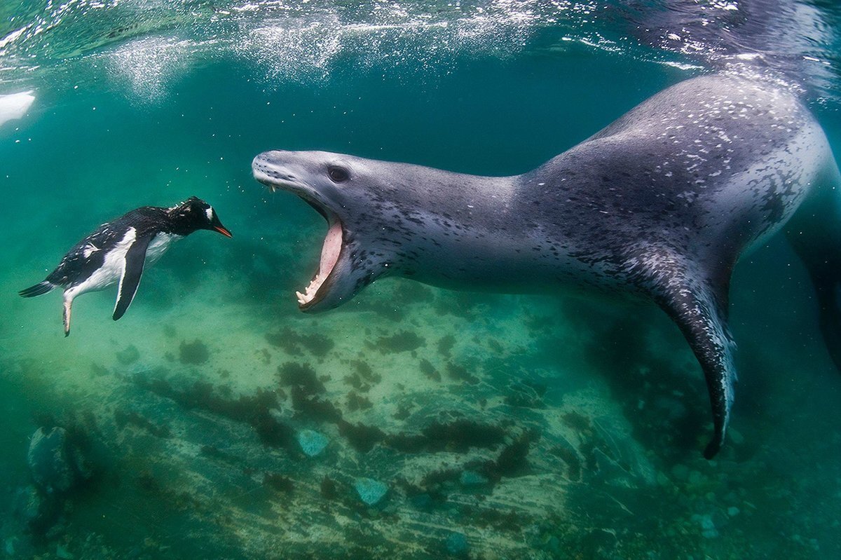
[[[345,234],[341,219],[339,219],[327,204],[320,201],[311,188],[302,182],[296,181],[294,177],[284,177],[277,172],[271,172],[262,168],[262,166],[257,166],[257,164],[254,167],[254,177],[257,181],[262,182],[270,188],[272,193],[283,190],[298,195],[299,198],[312,206],[327,220],[329,227],[324,244],[321,246],[318,270],[303,292],[295,292],[295,296],[298,298],[299,309],[306,311],[325,298],[336,276],[334,274],[336,264],[339,262],[341,250],[345,245]]]

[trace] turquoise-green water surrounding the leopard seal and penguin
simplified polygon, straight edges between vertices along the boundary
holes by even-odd
[[[736,270],[708,462],[706,387],[657,309],[387,279],[301,314],[324,221],[250,168],[283,148],[519,173],[720,68],[801,87],[838,153],[835,8],[43,4],[0,7],[0,95],[34,96],[0,124],[0,553],[841,554],[841,378],[784,240]],[[118,322],[115,288],[66,339],[60,296],[18,297],[103,221],[191,195],[234,237],[179,241]],[[54,426],[86,480],[38,497],[30,437]]]

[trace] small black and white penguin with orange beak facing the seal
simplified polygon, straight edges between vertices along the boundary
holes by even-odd
[[[167,251],[172,241],[196,230],[215,230],[230,237],[209,203],[190,197],[172,208],[143,206],[100,225],[79,241],[41,283],[21,290],[24,298],[64,288],[64,335],[70,334],[70,312],[79,294],[119,281],[114,320],[135,298],[143,269]]]

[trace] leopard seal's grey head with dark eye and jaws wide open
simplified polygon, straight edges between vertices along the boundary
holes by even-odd
[[[383,239],[383,205],[372,188],[383,177],[374,180],[369,163],[323,151],[266,151],[251,164],[257,181],[298,195],[327,220],[319,269],[296,293],[302,311],[345,303],[397,262],[394,246]]]

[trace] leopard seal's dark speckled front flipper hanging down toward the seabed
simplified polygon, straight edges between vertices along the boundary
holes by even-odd
[[[706,378],[712,406],[712,440],[704,450],[711,459],[721,449],[733,404],[733,339],[727,328],[727,285],[684,272],[659,272],[655,300],[680,327]]]

